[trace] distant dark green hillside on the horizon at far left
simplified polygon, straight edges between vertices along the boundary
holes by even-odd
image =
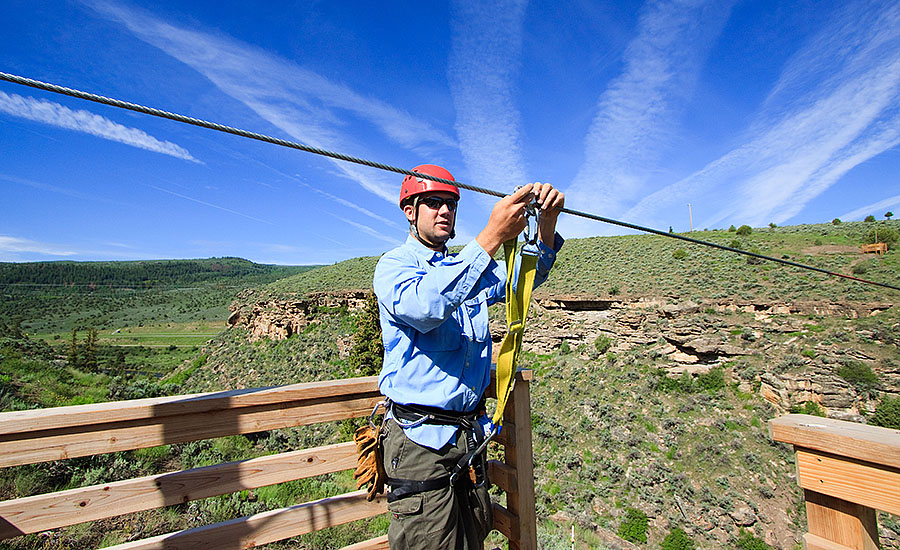
[[[41,334],[224,320],[240,290],[314,267],[241,258],[0,263],[0,320]]]

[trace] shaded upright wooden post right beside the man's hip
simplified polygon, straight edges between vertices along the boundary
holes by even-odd
[[[504,412],[504,425],[515,430],[514,445],[506,446],[506,464],[516,471],[516,487],[506,493],[506,507],[515,518],[518,540],[510,550],[537,550],[537,518],[534,510],[534,455],[531,447],[531,372],[520,373]],[[507,425],[508,423],[508,425]]]

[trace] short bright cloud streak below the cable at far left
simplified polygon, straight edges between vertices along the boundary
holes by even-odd
[[[72,110],[52,101],[0,92],[0,111],[58,128],[84,132],[154,153],[200,163],[186,149],[171,141],[158,140],[137,128],[123,126],[90,111]]]

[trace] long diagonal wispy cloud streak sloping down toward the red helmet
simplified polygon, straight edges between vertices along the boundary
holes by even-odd
[[[402,109],[259,48],[227,36],[177,27],[136,8],[103,0],[87,3],[125,25],[136,37],[203,74],[222,92],[305,144],[336,150],[361,149],[349,128],[351,118],[355,118],[409,150],[434,151],[455,146],[444,132]],[[365,189],[393,202],[395,178],[371,175],[346,162],[332,162]]]

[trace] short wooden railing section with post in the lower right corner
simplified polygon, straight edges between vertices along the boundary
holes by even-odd
[[[807,550],[873,550],[875,511],[900,515],[900,430],[791,414],[769,421],[794,446]]]

